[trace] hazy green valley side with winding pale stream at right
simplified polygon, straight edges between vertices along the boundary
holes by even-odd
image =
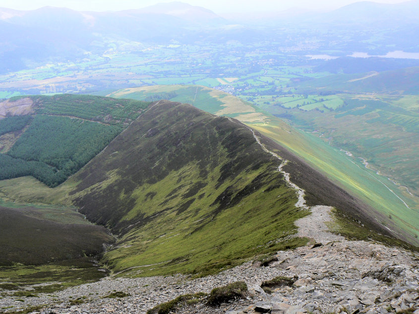
[[[316,130],[331,145],[365,158],[369,166],[419,195],[419,105],[417,96],[341,95],[347,105],[335,111],[302,111],[274,106],[297,127]],[[270,108],[267,108],[270,110]],[[377,132],[379,130],[379,133]],[[357,159],[354,158],[354,161]],[[405,188],[404,198],[412,198]],[[419,209],[417,204],[410,204]]]

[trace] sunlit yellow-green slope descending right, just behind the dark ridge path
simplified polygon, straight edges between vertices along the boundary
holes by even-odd
[[[362,164],[351,160],[350,157],[329,146],[320,138],[292,129],[282,121],[275,122],[272,119],[272,122],[267,125],[250,124],[250,126],[302,157],[315,169],[320,170],[338,185],[381,212],[383,217],[392,215],[393,219],[387,221],[390,227],[393,225],[402,228],[411,235],[419,234],[417,223],[419,213],[406,208],[398,198],[397,194],[400,192],[390,181],[376,177],[373,171],[365,169]],[[397,192],[396,195],[379,180],[392,187],[393,191]],[[415,237],[412,237],[410,241],[417,243]]]

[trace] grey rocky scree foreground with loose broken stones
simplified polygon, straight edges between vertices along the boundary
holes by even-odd
[[[217,275],[190,280],[185,275],[105,278],[54,295],[17,301],[0,300],[1,308],[43,305],[36,313],[146,313],[163,302],[190,293],[209,293],[235,281],[246,282],[246,297],[219,307],[202,302],[178,313],[414,313],[419,314],[419,259],[415,253],[364,241],[348,241],[328,233],[329,208],[311,209],[300,219],[300,236],[315,245],[278,252],[268,266],[246,262]],[[266,293],[260,285],[276,276],[296,280]],[[298,279],[297,279],[298,277]],[[116,293],[117,292],[117,293]],[[114,293],[113,298],[109,295]],[[7,311],[7,310],[4,310]]]

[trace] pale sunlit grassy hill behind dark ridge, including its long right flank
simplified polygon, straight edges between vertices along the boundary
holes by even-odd
[[[196,87],[168,86],[161,88],[164,91],[175,91],[178,94],[177,100],[185,102],[194,98],[196,93]],[[159,90],[159,87],[145,87],[134,90],[125,89],[111,95],[115,97],[133,97],[134,99],[141,99],[137,98],[139,94],[136,93],[140,93],[141,97],[147,97],[147,95],[149,95],[148,93],[151,93],[152,95]],[[212,92],[212,95],[217,95],[217,97],[211,97],[212,95],[209,95],[208,91],[200,90],[198,88],[197,97],[200,93],[207,94],[206,96],[201,97],[212,100],[209,101],[209,104],[207,104],[207,102],[195,100],[195,106],[211,113],[217,113],[221,108],[224,108],[219,104],[219,101],[220,99],[223,99],[225,93],[214,91]],[[224,105],[228,106],[229,104],[225,103]],[[237,110],[237,112],[242,113],[243,110]],[[242,116],[238,114],[227,115],[234,116],[239,120],[242,118]],[[414,199],[404,195],[404,192],[399,190],[391,181],[376,175],[373,171],[365,169],[360,162],[351,160],[350,157],[329,146],[317,136],[290,127],[279,118],[263,113],[261,113],[262,121],[249,121],[249,119],[246,119],[247,117],[248,116],[242,121],[252,128],[257,129],[262,134],[270,137],[281,146],[287,148],[305,162],[308,162],[310,166],[319,170],[333,182],[359,198],[370,209],[373,208],[377,210],[378,212],[375,212],[375,214],[380,217],[379,221],[384,226],[399,231],[400,229],[405,230],[403,233],[407,232],[407,234],[404,235],[399,234],[399,237],[404,238],[411,243],[418,244],[415,235],[419,235],[419,213],[418,211],[413,210],[416,208],[417,203]],[[386,188],[383,183],[395,192],[396,195]],[[413,209],[406,208],[398,197],[404,199]],[[371,213],[369,216],[371,216]],[[412,216],[414,219],[412,219]]]

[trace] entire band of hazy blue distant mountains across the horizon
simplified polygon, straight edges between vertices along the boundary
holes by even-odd
[[[203,7],[182,2],[118,12],[78,12],[59,7],[31,11],[0,8],[0,73],[48,61],[76,62],[87,52],[102,55],[118,50],[115,45],[121,42],[205,46],[229,41],[255,44],[274,39],[276,45],[295,46],[311,38],[316,28],[323,36],[324,50],[382,54],[388,52],[388,47],[397,47],[417,51],[417,41],[412,40],[418,38],[417,16],[417,0],[399,4],[357,2],[327,13],[269,12],[253,21],[241,19],[238,24]],[[378,34],[380,29],[383,34]],[[344,41],[345,36],[350,39]],[[375,40],[377,45],[370,44]],[[340,46],[336,47],[336,42]],[[327,47],[328,43],[335,44]]]

